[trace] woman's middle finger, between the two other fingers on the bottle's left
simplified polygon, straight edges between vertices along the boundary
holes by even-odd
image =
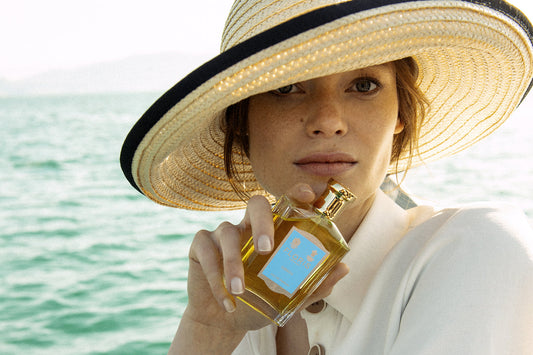
[[[226,288],[234,295],[244,292],[244,269],[241,256],[240,230],[229,222],[224,222],[214,232],[222,251]]]

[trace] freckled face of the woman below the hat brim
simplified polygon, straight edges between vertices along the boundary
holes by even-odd
[[[250,160],[279,197],[296,183],[321,193],[335,178],[373,200],[401,132],[394,64],[329,75],[250,98]]]

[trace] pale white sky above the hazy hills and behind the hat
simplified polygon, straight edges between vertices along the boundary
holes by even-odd
[[[512,0],[533,21],[531,0]],[[218,53],[233,0],[0,0],[0,79],[133,55]],[[201,64],[201,63],[199,63]]]

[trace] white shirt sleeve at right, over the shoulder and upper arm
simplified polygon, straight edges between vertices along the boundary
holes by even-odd
[[[533,354],[533,232],[512,208],[450,218],[409,270],[399,332],[404,354]]]

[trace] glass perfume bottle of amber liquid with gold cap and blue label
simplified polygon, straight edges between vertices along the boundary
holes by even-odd
[[[238,298],[283,326],[348,252],[332,220],[354,199],[334,180],[314,205],[282,196],[272,209],[273,252],[259,255],[252,238],[241,250],[245,292]]]

